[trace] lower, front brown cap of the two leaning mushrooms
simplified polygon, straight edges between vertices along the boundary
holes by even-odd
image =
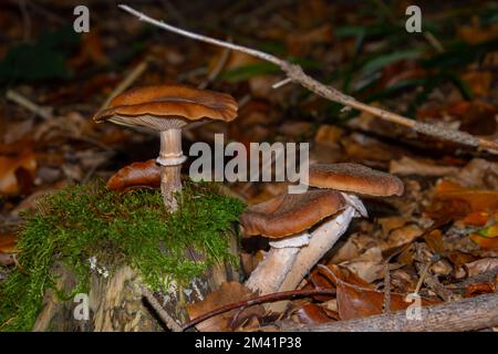
[[[344,198],[335,190],[284,194],[250,206],[240,216],[240,222],[247,236],[283,238],[313,227],[345,205]]]

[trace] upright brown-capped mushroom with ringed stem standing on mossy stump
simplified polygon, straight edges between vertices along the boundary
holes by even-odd
[[[180,84],[137,87],[115,96],[94,121],[159,132],[160,190],[169,211],[177,209],[175,194],[181,190],[181,127],[204,118],[230,122],[237,116],[237,102],[228,94]]]

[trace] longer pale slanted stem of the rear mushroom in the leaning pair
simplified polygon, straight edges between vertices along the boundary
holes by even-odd
[[[295,256],[292,269],[287,273],[278,291],[295,289],[314,264],[335,244],[339,238],[347,230],[347,227],[356,215],[356,209],[347,206],[336,217],[323,222],[312,233],[310,244],[303,247]],[[287,301],[274,302],[269,305],[269,310],[281,312],[287,305]]]

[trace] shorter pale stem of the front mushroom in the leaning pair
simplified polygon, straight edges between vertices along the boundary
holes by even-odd
[[[309,237],[309,233],[304,231],[270,242],[270,251],[252,271],[246,281],[246,287],[261,295],[276,292],[292,269],[301,247],[308,244]]]

